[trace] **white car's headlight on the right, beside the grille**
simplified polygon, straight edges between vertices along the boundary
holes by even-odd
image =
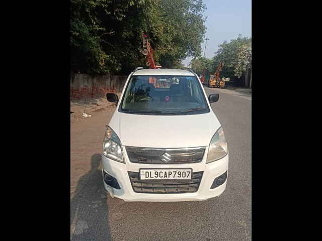
[[[226,156],[227,153],[228,147],[225,134],[222,127],[220,127],[210,141],[206,163],[217,161]]]

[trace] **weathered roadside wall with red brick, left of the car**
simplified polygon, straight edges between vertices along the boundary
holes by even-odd
[[[126,78],[119,75],[92,77],[88,74],[71,74],[70,100],[99,98],[106,96],[107,92],[122,92]]]

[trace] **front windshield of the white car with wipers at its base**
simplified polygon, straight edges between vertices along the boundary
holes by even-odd
[[[198,114],[209,112],[195,76],[134,75],[120,105],[137,114]]]

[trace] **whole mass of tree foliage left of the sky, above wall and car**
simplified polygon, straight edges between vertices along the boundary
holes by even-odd
[[[145,66],[142,32],[163,67],[199,56],[205,26],[202,0],[71,0],[74,72],[127,74]]]

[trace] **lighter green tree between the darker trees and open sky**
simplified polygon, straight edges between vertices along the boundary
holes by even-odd
[[[206,7],[201,0],[160,1],[160,22],[163,32],[158,36],[156,56],[161,65],[172,67],[174,61],[201,55],[201,43],[205,36]]]

